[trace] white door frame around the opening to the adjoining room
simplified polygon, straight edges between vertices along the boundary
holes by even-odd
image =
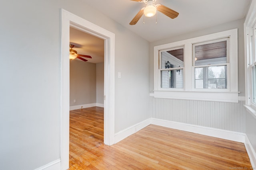
[[[61,170],[69,168],[70,61],[69,29],[75,27],[104,39],[104,144],[114,144],[115,63],[114,33],[61,9],[60,58],[60,159]],[[103,96],[102,96],[103,97]]]

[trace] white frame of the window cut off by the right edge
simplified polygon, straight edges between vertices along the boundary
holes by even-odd
[[[256,1],[252,1],[250,9],[244,21],[244,54],[245,54],[245,82],[246,82],[246,104],[245,107],[254,117],[256,117],[256,104],[252,102],[253,97],[253,82],[252,82],[252,67],[256,65],[256,49],[255,49],[255,34],[256,28]],[[253,41],[251,41],[253,37]]]

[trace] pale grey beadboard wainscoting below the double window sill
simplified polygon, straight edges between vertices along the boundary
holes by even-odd
[[[150,97],[151,117],[245,133],[245,102],[211,102]]]

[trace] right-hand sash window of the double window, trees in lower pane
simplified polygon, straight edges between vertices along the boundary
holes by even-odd
[[[227,89],[229,38],[193,44],[194,88]]]

